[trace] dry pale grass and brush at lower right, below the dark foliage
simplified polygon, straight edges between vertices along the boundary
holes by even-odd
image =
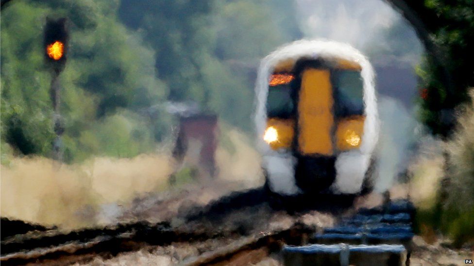
[[[470,94],[471,102],[458,109],[450,140],[432,141],[431,152],[422,152],[410,167],[410,195],[425,240],[433,241],[440,229],[457,246],[474,244],[474,89]]]

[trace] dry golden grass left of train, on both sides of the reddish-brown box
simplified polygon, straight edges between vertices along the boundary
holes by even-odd
[[[235,150],[218,147],[218,178],[236,183],[235,189],[263,184],[260,156],[250,140],[235,129],[224,134]],[[168,191],[173,171],[175,163],[166,152],[98,157],[73,165],[44,157],[12,158],[8,166],[0,166],[1,216],[67,230],[108,224],[135,198]],[[203,194],[199,200],[208,202],[208,198]]]

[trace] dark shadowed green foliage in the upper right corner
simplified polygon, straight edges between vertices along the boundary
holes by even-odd
[[[436,16],[425,23],[440,56],[427,55],[418,70],[422,101],[421,118],[432,133],[447,136],[454,125],[454,108],[468,100],[467,88],[474,86],[474,4],[471,0],[427,0],[425,7]],[[442,62],[440,65],[438,62]]]

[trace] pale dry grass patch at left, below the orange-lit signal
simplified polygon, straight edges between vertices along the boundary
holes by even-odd
[[[169,158],[96,158],[58,165],[43,157],[14,158],[1,169],[1,216],[63,228],[91,226],[107,203],[127,203],[167,187]]]

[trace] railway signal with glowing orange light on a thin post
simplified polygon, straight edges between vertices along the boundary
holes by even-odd
[[[64,133],[62,118],[59,113],[60,90],[59,74],[66,65],[68,52],[68,29],[67,19],[46,18],[44,28],[44,56],[46,64],[51,68],[51,101],[54,109],[54,133],[56,138],[53,141],[53,156],[56,160],[61,160],[61,135]]]

